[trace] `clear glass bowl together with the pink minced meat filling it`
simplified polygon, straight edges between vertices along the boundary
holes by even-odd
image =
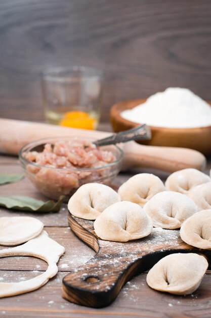
[[[110,184],[121,168],[122,150],[96,147],[82,138],[46,138],[25,145],[19,159],[26,176],[46,197],[70,197],[82,184]]]

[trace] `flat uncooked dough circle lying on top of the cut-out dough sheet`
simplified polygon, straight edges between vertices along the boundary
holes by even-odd
[[[19,245],[36,237],[43,230],[44,224],[29,216],[0,217],[0,244]]]

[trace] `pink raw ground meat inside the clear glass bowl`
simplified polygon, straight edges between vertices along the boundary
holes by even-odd
[[[42,152],[29,151],[24,157],[32,163],[45,166],[28,164],[26,174],[41,193],[53,199],[58,199],[63,194],[70,195],[83,183],[106,177],[108,172],[100,167],[116,159],[112,152],[100,150],[90,142],[79,140],[46,144]],[[78,170],[90,168],[99,170]]]

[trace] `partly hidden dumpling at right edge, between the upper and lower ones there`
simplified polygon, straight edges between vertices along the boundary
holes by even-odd
[[[211,209],[211,182],[194,186],[188,197],[195,202],[199,211]]]

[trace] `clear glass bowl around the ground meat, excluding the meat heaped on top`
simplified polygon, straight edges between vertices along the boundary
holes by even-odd
[[[81,137],[56,137],[45,138],[28,143],[21,148],[19,160],[25,174],[40,193],[51,199],[58,199],[61,195],[70,197],[82,184],[97,182],[111,184],[121,168],[123,151],[115,146],[98,147],[100,150],[110,151],[115,160],[98,168],[55,168],[38,165],[25,158],[29,151],[42,152],[45,144],[54,145],[58,141],[87,141],[93,139]]]

